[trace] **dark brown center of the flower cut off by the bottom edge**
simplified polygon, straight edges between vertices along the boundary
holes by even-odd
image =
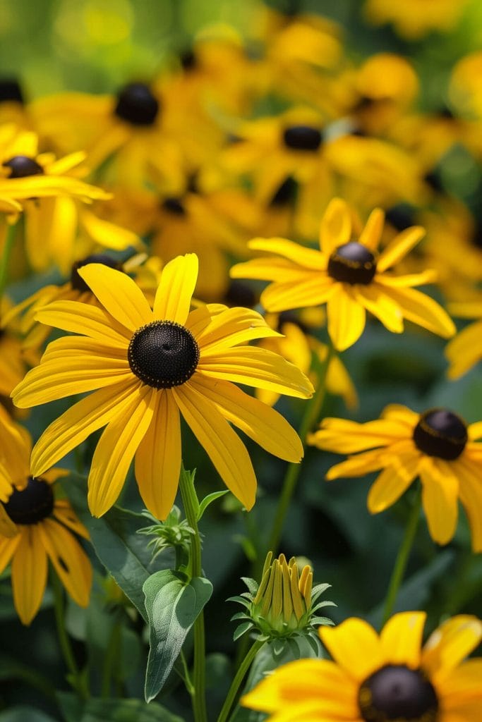
[[[366,722],[436,722],[439,702],[420,669],[390,664],[374,672],[358,692]]]

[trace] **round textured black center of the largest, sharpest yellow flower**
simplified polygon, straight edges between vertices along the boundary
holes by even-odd
[[[186,383],[199,362],[199,346],[191,331],[174,321],[152,321],[134,332],[127,359],[132,373],[152,388]]]

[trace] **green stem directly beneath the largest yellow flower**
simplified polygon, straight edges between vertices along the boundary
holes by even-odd
[[[201,538],[197,528],[199,503],[192,476],[186,473],[184,466],[181,466],[179,488],[186,519],[191,529],[194,529],[194,535],[191,537],[191,576],[200,577],[202,575]],[[194,695],[192,695],[192,709],[195,722],[207,722],[205,657],[205,617],[204,612],[201,612],[194,622],[194,671],[192,674]]]

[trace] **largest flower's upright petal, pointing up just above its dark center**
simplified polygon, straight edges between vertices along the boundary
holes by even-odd
[[[195,253],[177,256],[165,264],[155,294],[154,316],[160,321],[175,321],[184,326],[197,282],[198,261]]]

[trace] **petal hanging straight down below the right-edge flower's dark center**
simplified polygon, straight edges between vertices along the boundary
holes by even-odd
[[[447,544],[457,527],[458,479],[450,464],[434,457],[423,459],[419,474],[430,536],[437,544]]]

